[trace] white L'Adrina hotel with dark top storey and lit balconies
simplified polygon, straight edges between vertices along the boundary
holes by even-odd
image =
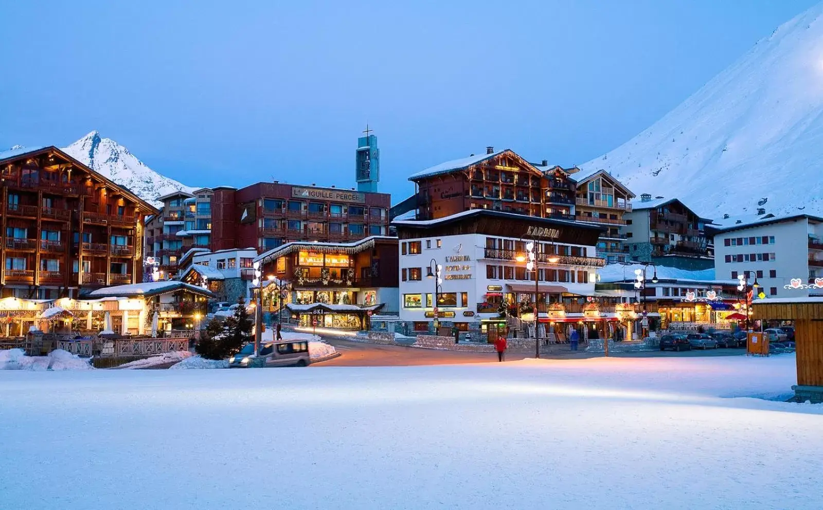
[[[602,232],[596,225],[485,209],[393,225],[400,241],[400,320],[413,323],[416,332],[432,331],[435,293],[439,325],[447,331],[485,331],[488,323],[501,322],[501,303],[518,310],[532,304],[534,273],[517,260],[532,240],[538,248],[538,312],[546,322],[564,304],[583,306],[604,264],[593,257]],[[441,285],[427,277],[438,267]]]

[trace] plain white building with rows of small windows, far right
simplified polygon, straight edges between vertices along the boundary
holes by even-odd
[[[714,223],[716,278],[746,275],[751,285],[757,277],[766,299],[823,295],[823,218],[763,214]]]

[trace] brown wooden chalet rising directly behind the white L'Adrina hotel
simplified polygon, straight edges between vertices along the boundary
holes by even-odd
[[[447,161],[413,174],[417,220],[472,209],[574,219],[574,183],[560,167],[543,172],[509,149]]]

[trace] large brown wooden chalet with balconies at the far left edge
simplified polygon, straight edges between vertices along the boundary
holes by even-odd
[[[2,297],[142,281],[149,203],[54,146],[0,152],[0,179]]]

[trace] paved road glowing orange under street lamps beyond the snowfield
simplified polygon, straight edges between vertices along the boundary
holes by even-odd
[[[495,353],[473,353],[458,352],[451,350],[420,349],[417,347],[403,347],[400,345],[369,344],[364,342],[341,340],[339,337],[327,336],[323,338],[329,344],[334,345],[341,356],[312,365],[317,367],[328,366],[408,366],[421,364],[459,364],[459,363],[496,363]],[[634,353],[612,353],[612,356],[619,358],[650,358],[650,357],[680,357],[687,358],[693,356],[733,356],[743,355],[745,349],[713,349],[713,350],[686,350],[683,352],[649,351]],[[513,361],[532,357],[530,353],[507,352],[506,360]],[[602,354],[588,353],[582,350],[571,352],[561,350],[546,356],[552,359],[584,359],[597,358]]]

